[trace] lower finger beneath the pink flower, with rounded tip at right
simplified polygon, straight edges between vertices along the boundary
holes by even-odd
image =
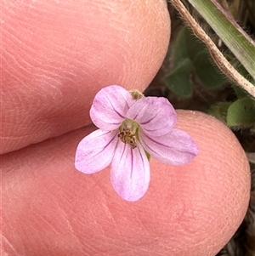
[[[200,153],[184,166],[151,159],[150,187],[126,202],[110,169],[74,168],[80,139],[94,127],[3,156],[3,248],[21,255],[215,255],[241,224],[249,200],[246,155],[229,128],[178,111],[178,128]]]

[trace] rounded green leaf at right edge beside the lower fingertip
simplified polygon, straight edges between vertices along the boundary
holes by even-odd
[[[251,98],[241,98],[231,105],[227,112],[229,127],[249,128],[255,124],[255,103]]]

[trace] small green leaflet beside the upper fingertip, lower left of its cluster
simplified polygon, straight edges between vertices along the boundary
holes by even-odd
[[[188,98],[192,95],[192,87],[190,84],[190,68],[191,62],[185,59],[177,68],[175,68],[167,77],[163,78],[163,82],[174,94]]]

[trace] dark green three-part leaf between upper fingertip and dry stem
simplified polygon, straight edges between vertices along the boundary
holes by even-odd
[[[208,49],[184,26],[172,44],[173,70],[163,77],[163,82],[174,94],[192,96],[193,81],[201,82],[204,88],[220,88],[228,80],[219,71]]]

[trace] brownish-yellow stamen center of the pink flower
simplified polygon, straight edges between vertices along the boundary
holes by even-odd
[[[137,147],[137,139],[139,139],[139,124],[137,122],[133,122],[133,120],[126,118],[125,121],[122,122],[122,125],[119,129],[120,133],[118,134],[118,137],[122,140],[123,143],[129,144],[133,149],[135,149]]]

